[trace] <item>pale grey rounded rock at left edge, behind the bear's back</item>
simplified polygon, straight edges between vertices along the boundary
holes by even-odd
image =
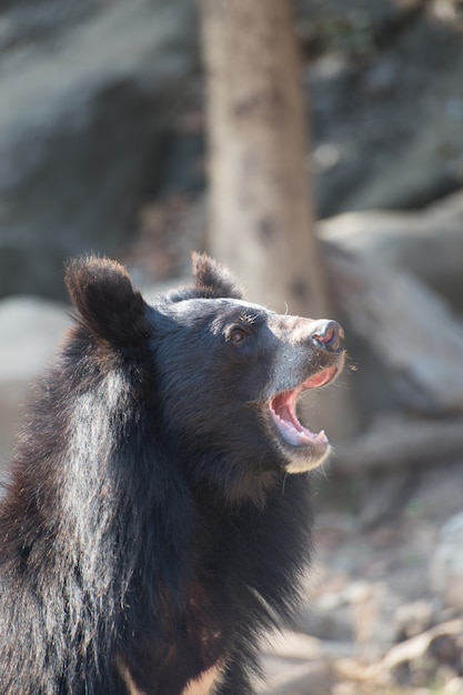
[[[9,455],[31,384],[70,323],[57,303],[32,298],[0,302],[0,463]]]

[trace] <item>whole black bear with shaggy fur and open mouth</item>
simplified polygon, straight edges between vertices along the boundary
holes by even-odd
[[[246,695],[298,605],[329,442],[296,400],[342,330],[193,274],[150,305],[113,261],[68,266],[76,325],[0,505],[1,695]]]

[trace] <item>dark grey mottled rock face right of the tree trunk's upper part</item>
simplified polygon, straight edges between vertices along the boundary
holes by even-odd
[[[456,20],[425,4],[302,1],[302,36],[320,49],[306,70],[313,150],[336,152],[316,170],[322,218],[422,208],[461,188],[463,46]]]

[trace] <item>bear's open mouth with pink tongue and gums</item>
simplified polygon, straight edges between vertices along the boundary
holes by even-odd
[[[278,393],[271,399],[270,412],[276,430],[286,444],[292,446],[303,446],[306,444],[324,444],[328,445],[328,436],[322,430],[319,433],[311,432],[304,427],[295,413],[295,406],[299,395],[306,389],[319,389],[330,383],[336,375],[335,366],[322,370],[318,374],[310,376],[301,385],[290,391]]]

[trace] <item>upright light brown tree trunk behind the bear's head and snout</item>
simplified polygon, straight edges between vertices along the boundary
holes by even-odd
[[[240,276],[252,301],[281,313],[335,318],[313,232],[292,3],[200,0],[200,7],[209,251]],[[332,431],[342,436],[353,425],[352,409],[341,412],[340,401],[345,391],[338,390],[336,402],[332,397],[323,410],[330,410]]]

